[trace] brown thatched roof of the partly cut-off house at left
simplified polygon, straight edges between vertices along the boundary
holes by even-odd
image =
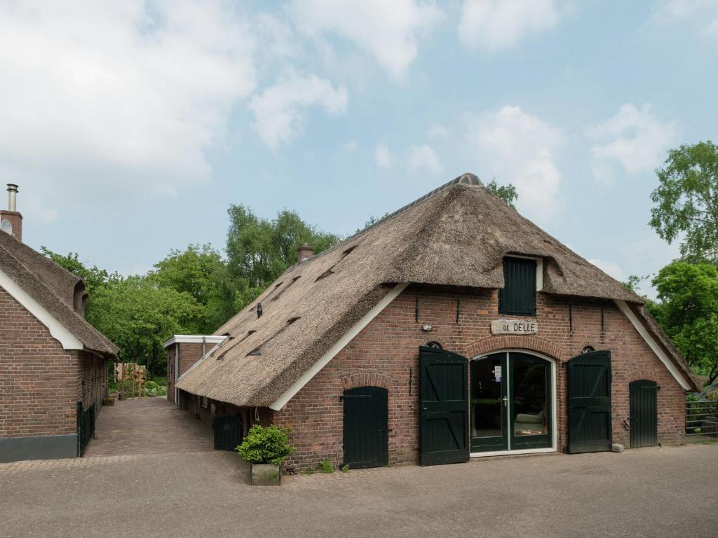
[[[117,355],[117,346],[75,312],[75,290],[85,289],[80,278],[4,232],[0,232],[0,270],[82,342],[85,349],[111,357]]]

